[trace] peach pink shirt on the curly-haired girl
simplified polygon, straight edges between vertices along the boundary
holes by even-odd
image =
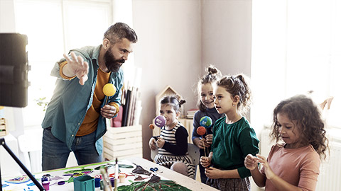
[[[269,166],[286,182],[300,187],[302,190],[315,190],[320,173],[320,156],[313,146],[298,149],[286,149],[284,144],[272,146],[267,159]],[[264,167],[261,169],[264,173]],[[265,190],[276,190],[270,180],[266,180]]]

